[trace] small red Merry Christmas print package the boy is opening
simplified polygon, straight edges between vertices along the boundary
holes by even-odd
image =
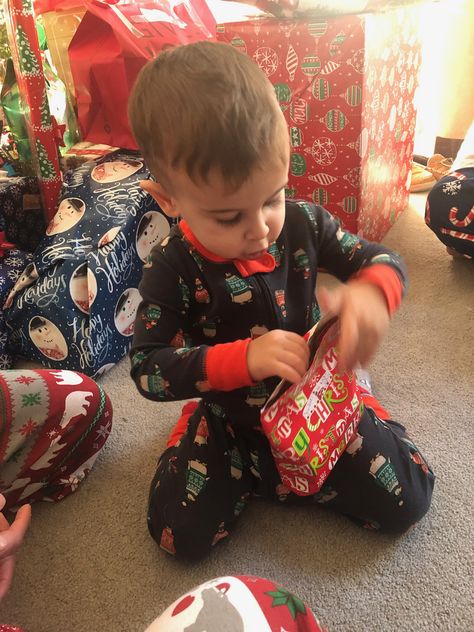
[[[353,371],[338,370],[337,338],[336,319],[321,320],[311,366],[297,384],[280,382],[261,412],[282,483],[300,496],[319,492],[364,412]]]

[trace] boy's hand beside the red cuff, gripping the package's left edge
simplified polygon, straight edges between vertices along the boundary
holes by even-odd
[[[305,374],[308,362],[306,340],[292,331],[274,329],[252,340],[247,348],[247,366],[255,382],[275,375],[292,383],[298,382]]]

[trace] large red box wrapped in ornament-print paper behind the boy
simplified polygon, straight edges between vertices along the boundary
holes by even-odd
[[[220,24],[275,86],[290,128],[287,195],[380,240],[407,204],[421,61],[418,7]]]

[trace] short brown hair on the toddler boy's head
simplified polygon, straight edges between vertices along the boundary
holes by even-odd
[[[208,182],[216,169],[238,188],[260,161],[281,151],[277,132],[285,125],[264,73],[217,42],[178,46],[148,62],[132,91],[129,118],[149,168],[165,186],[168,168],[184,169],[194,182]]]

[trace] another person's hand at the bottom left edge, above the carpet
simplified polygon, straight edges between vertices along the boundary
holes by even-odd
[[[0,494],[0,510],[5,497]],[[6,595],[13,579],[15,553],[20,548],[31,519],[31,506],[23,505],[18,510],[13,524],[0,512],[0,601]]]

